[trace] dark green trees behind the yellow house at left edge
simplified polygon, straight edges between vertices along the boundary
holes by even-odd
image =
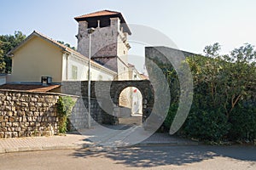
[[[10,73],[11,72],[11,59],[7,56],[8,52],[20,44],[26,35],[21,31],[15,31],[15,35],[1,35],[0,36],[0,72]],[[1,57],[3,57],[1,59]]]

